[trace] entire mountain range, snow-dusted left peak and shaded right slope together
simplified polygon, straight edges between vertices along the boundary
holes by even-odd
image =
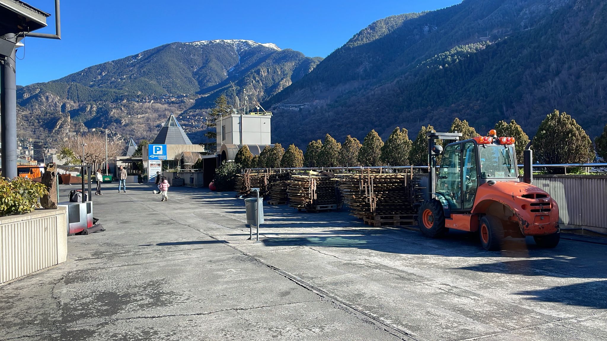
[[[532,136],[554,109],[592,137],[607,123],[605,18],[600,0],[464,0],[373,22],[325,59],[246,40],[174,42],[19,88],[19,125],[153,138],[170,112],[197,129],[236,90],[241,106],[271,107],[283,145],[371,129],[387,138],[396,126],[413,138],[455,117],[478,132],[514,119]]]

